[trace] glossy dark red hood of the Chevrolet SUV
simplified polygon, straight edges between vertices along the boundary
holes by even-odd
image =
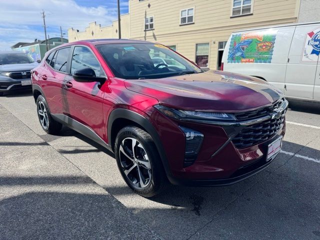
[[[270,104],[283,96],[262,79],[214,70],[125,80],[124,84],[129,90],[155,97],[159,104],[187,110],[236,112]]]

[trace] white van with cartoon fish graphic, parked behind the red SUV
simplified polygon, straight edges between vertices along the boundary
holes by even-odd
[[[320,101],[320,22],[233,32],[221,69],[262,78],[288,98]]]

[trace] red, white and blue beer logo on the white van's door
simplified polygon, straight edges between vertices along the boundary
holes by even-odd
[[[317,61],[320,53],[320,27],[306,33],[301,61]]]

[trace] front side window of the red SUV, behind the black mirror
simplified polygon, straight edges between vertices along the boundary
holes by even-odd
[[[86,67],[92,68],[96,76],[101,73],[101,66],[92,52],[84,46],[75,46],[71,61],[71,74]]]

